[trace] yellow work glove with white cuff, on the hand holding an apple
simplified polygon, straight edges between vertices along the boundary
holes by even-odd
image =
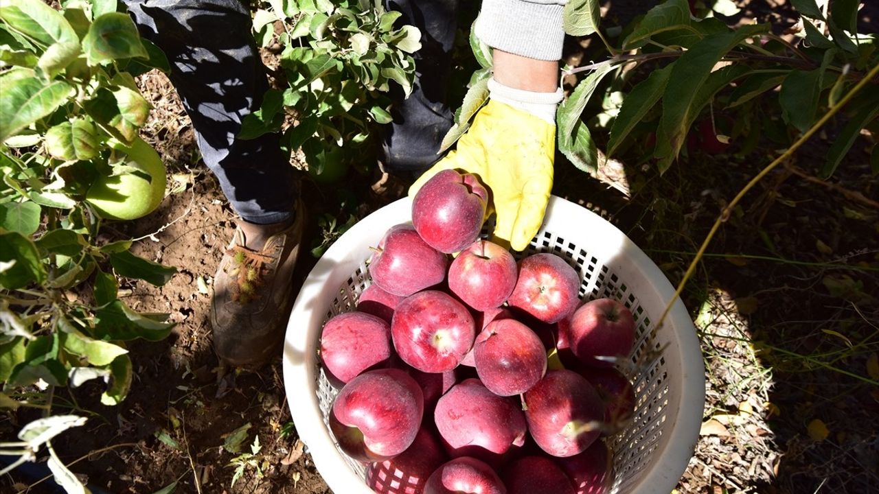
[[[562,92],[521,91],[494,80],[489,90],[489,103],[476,113],[457,148],[425,171],[409,195],[439,171],[473,173],[490,191],[486,214],[497,214],[495,241],[523,251],[541,228],[552,190]]]

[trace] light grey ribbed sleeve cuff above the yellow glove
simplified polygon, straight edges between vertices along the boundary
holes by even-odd
[[[536,60],[559,60],[564,42],[564,3],[483,0],[476,19],[476,37],[508,53]]]

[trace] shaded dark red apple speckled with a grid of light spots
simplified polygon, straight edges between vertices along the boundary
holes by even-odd
[[[367,469],[367,485],[380,494],[423,494],[428,477],[448,460],[433,433],[422,427],[412,445]]]

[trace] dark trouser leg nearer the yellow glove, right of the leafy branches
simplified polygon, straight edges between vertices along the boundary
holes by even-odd
[[[439,159],[439,143],[452,127],[446,90],[452,66],[459,0],[385,0],[400,11],[401,24],[421,31],[421,49],[414,54],[416,83],[409,98],[392,95],[393,123],[385,126],[381,163],[392,172],[425,171]]]

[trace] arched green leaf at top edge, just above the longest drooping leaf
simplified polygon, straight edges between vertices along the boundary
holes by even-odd
[[[686,0],[669,0],[650,9],[622,42],[622,47],[625,50],[643,47],[650,38],[662,33],[672,35],[670,40],[663,40],[666,46],[692,47],[708,34],[728,31],[729,28],[714,18],[695,20]]]

